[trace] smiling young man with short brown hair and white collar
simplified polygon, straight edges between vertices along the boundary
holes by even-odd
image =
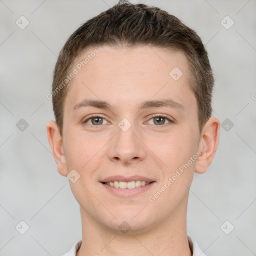
[[[204,255],[186,209],[217,147],[212,87],[198,35],[159,8],[119,3],[69,37],[47,123],[80,205],[82,239],[65,256]]]

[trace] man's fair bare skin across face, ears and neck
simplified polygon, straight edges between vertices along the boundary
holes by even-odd
[[[83,52],[74,66],[92,50]],[[66,176],[75,169],[80,175],[76,182],[69,181],[82,222],[77,255],[192,255],[186,234],[188,192],[194,172],[203,173],[212,161],[219,120],[210,117],[199,132],[196,98],[187,82],[188,62],[181,51],[148,46],[100,46],[98,50],[69,84],[63,136],[55,121],[47,123],[59,173]],[[176,81],[169,75],[174,67],[183,73]],[[72,110],[84,98],[107,101],[114,107]],[[144,100],[165,98],[182,107],[136,108]],[[95,118],[83,123],[90,114],[102,117],[102,124],[95,124]],[[163,119],[159,126],[157,114],[174,122]],[[126,131],[118,126],[123,118],[131,124]],[[200,156],[150,202],[149,196],[197,151]],[[99,182],[111,175],[142,175],[155,182],[140,194],[120,197]],[[126,233],[118,227],[123,221],[130,226]]]

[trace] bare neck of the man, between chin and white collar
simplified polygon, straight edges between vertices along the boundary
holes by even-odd
[[[163,219],[146,230],[122,233],[98,223],[81,207],[80,211],[82,243],[76,256],[192,255],[186,235],[186,213]]]

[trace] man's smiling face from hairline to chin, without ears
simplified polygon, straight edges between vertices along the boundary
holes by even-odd
[[[148,46],[98,50],[64,102],[66,171],[80,175],[71,190],[81,214],[106,228],[159,225],[184,213],[200,144],[187,58]]]

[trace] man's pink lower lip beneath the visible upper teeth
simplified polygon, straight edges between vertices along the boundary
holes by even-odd
[[[155,181],[153,181],[147,185],[139,186],[139,187],[135,187],[135,188],[116,188],[114,186],[110,186],[110,185],[107,185],[104,183],[101,183],[101,184],[107,190],[109,190],[110,192],[112,192],[115,195],[119,195],[121,197],[129,197],[129,196],[140,194],[140,193],[148,190],[154,183],[155,183]]]

